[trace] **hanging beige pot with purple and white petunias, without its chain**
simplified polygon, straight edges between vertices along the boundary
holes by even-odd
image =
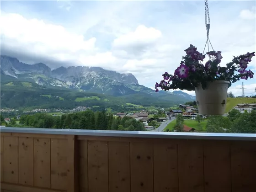
[[[159,87],[165,91],[195,91],[199,114],[224,114],[227,91],[231,84],[240,79],[253,78],[254,73],[245,69],[255,56],[255,52],[234,57],[226,67],[219,65],[222,59],[220,51],[206,53],[209,56],[206,64],[201,64],[205,55],[199,53],[193,45],[185,52],[187,55],[182,57],[181,65],[175,70],[174,75],[165,72],[164,80],[155,84],[156,91],[159,91]]]

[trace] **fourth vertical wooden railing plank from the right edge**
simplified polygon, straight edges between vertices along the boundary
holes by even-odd
[[[155,192],[178,192],[178,154],[176,144],[154,144]]]

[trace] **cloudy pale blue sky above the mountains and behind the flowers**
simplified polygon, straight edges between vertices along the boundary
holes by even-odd
[[[256,1],[208,0],[209,38],[222,51],[224,66],[233,56],[256,51]],[[140,85],[154,88],[165,72],[180,65],[193,44],[206,42],[204,0],[1,0],[0,54],[22,62],[59,66],[96,66],[132,73]],[[254,94],[255,78],[229,91]],[[195,95],[192,91],[185,91]]]

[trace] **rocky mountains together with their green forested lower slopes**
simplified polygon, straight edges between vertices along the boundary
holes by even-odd
[[[1,108],[32,110],[85,106],[95,110],[131,111],[172,107],[195,99],[182,91],[155,92],[139,85],[132,74],[85,66],[52,70],[43,63],[25,64],[3,55],[0,56],[0,79]]]

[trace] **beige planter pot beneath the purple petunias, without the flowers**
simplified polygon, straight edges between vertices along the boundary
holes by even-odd
[[[222,115],[226,109],[229,81],[216,80],[208,82],[203,90],[202,86],[195,87],[199,114]]]

